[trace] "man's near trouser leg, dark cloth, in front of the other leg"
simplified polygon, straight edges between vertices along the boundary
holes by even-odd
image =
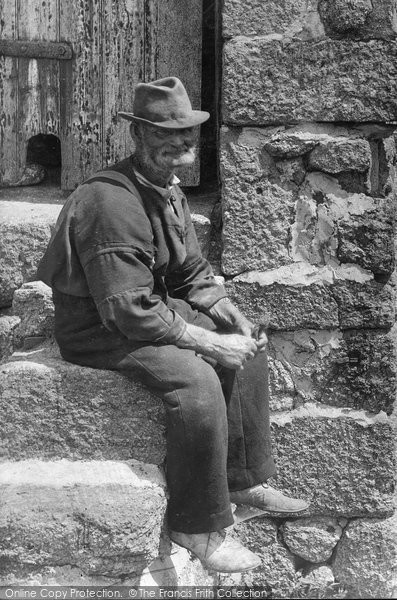
[[[190,350],[144,346],[118,368],[165,403],[170,528],[203,533],[231,525],[226,405],[213,367]]]

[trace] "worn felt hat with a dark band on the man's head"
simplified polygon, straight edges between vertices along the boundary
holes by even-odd
[[[150,83],[138,83],[133,112],[118,113],[128,121],[138,121],[165,129],[184,129],[200,125],[210,114],[193,110],[183,83],[177,77],[165,77]]]

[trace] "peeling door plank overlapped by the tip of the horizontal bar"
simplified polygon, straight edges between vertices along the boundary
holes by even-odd
[[[62,62],[62,188],[73,189],[102,165],[103,1],[62,0],[61,40],[74,59]]]

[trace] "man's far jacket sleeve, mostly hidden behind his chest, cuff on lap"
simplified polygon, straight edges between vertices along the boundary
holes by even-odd
[[[167,276],[166,283],[174,298],[181,298],[193,308],[205,310],[227,296],[218,284],[212,267],[203,258],[192,223],[186,198],[182,199],[185,218],[186,259],[183,265]]]

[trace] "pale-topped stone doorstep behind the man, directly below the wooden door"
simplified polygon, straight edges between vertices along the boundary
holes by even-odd
[[[0,308],[11,305],[16,289],[36,279],[38,263],[65,201],[50,186],[0,190]],[[203,254],[210,247],[210,215],[215,194],[189,197],[192,220]]]

